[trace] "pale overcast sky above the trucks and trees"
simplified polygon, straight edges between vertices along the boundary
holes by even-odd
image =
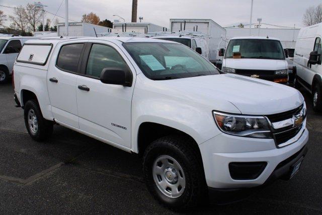
[[[38,0],[37,0],[38,1]],[[42,0],[48,6],[45,10],[55,14],[62,3],[57,15],[65,17],[64,0]],[[0,5],[16,7],[36,1],[29,0],[0,0]],[[82,15],[94,12],[101,20],[113,22],[119,15],[126,22],[131,21],[132,0],[69,0],[69,19],[81,21]],[[321,0],[254,0],[253,23],[262,18],[263,23],[303,27],[302,16],[309,6],[321,4]],[[0,7],[6,15],[13,10]],[[143,22],[151,22],[160,26],[169,27],[170,18],[199,18],[212,19],[222,27],[249,24],[251,0],[138,0],[137,16],[143,17]],[[46,14],[46,18],[54,16]],[[137,17],[137,18],[138,18]],[[58,17],[59,18],[59,17]],[[64,22],[63,18],[59,18]],[[6,22],[8,25],[10,20]],[[262,26],[266,27],[266,26]]]

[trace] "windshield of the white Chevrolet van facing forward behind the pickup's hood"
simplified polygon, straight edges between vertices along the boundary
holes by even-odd
[[[267,39],[230,40],[225,58],[285,59],[280,41]]]

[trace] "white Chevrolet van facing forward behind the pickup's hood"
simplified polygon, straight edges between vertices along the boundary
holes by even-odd
[[[222,70],[276,83],[288,82],[288,63],[281,42],[276,38],[231,38],[222,61]]]

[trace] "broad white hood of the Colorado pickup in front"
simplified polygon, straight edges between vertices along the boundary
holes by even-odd
[[[242,114],[268,115],[292,110],[304,99],[294,88],[260,79],[233,74],[200,76],[185,79],[157,81],[169,96],[189,98],[213,110],[227,112],[225,105],[233,104]],[[218,104],[221,103],[222,104]],[[219,108],[219,109],[217,109]]]

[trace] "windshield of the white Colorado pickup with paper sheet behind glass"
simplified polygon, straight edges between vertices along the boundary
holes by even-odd
[[[143,74],[152,80],[168,80],[219,74],[200,54],[182,44],[123,43]]]

